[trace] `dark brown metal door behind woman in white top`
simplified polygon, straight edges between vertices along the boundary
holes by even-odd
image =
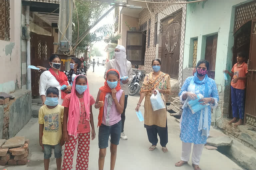
[[[49,67],[49,57],[53,53],[53,36],[39,35],[30,32],[31,65]],[[41,73],[31,69],[31,90],[33,96],[39,96],[39,79]]]

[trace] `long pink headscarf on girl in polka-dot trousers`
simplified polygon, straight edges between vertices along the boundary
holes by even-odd
[[[76,78],[78,76],[84,75],[77,75],[74,79],[71,94],[70,94],[70,103],[68,109],[68,123],[67,123],[67,130],[69,135],[73,135],[77,137],[77,126],[80,120],[80,102],[76,95]],[[84,107],[86,112],[86,120],[90,121],[90,92],[89,92],[89,84],[87,80],[87,89],[84,92]]]

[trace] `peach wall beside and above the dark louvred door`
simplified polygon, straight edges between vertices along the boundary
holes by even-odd
[[[137,30],[139,28],[139,19],[135,18],[135,17],[130,17],[128,15],[124,15],[121,14],[121,35],[122,38],[120,40],[118,40],[118,44],[123,45],[126,48],[126,35],[127,35],[127,31],[129,31],[129,28],[127,27],[127,25],[125,24],[125,22],[127,22],[127,24],[132,28],[132,27],[136,27]]]

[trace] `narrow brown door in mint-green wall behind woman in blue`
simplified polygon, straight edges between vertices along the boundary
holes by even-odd
[[[215,64],[218,35],[206,38],[205,59],[209,61],[208,77],[215,78]]]

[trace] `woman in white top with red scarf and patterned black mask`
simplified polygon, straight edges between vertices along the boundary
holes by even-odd
[[[61,67],[60,57],[57,55],[51,55],[49,64],[51,68],[48,71],[44,71],[40,76],[39,95],[44,105],[46,100],[46,90],[49,87],[57,87],[60,94],[58,101],[59,105],[61,105],[64,97],[71,91],[71,86],[69,85],[68,78],[65,73],[59,71],[59,68]],[[60,90],[62,85],[67,86],[63,91]]]

